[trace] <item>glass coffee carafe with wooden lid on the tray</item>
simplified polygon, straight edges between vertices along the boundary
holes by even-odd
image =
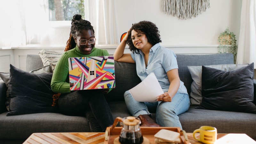
[[[128,117],[117,117],[112,129],[116,126],[117,122],[123,126],[122,131],[119,135],[119,142],[121,144],[140,144],[143,142],[143,136],[140,131],[140,119],[133,116]]]

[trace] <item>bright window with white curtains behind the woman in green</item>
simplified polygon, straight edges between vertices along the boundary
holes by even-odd
[[[0,12],[6,22],[0,28],[1,47],[35,45],[64,47],[75,14],[89,20],[94,28],[96,44],[117,44],[114,1],[99,0],[15,0],[4,1]],[[33,5],[33,6],[31,6]],[[13,41],[15,37],[15,41]]]

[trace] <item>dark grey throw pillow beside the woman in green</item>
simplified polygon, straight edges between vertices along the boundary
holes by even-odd
[[[52,73],[32,74],[10,65],[10,111],[7,116],[29,113],[58,113],[52,107]]]

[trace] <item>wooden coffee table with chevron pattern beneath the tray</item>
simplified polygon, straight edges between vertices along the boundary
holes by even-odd
[[[193,133],[187,133],[191,144],[203,144],[193,138]],[[198,136],[198,133],[197,133]],[[250,143],[256,144],[252,138],[246,134],[224,134],[217,135],[215,144]],[[33,133],[23,144],[103,144],[105,132],[58,132],[58,133]],[[150,144],[155,144],[150,141]]]

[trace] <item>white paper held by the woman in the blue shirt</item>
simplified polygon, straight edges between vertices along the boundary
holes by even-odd
[[[156,97],[164,93],[154,73],[150,73],[129,92],[136,101],[140,102],[156,102]]]

